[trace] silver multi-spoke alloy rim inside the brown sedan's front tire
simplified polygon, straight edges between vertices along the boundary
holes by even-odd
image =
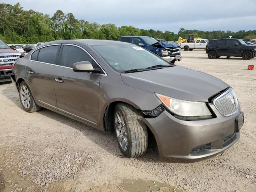
[[[122,150],[126,151],[128,146],[127,131],[124,124],[124,119],[119,111],[116,111],[115,114],[115,128],[118,143],[120,144]]]

